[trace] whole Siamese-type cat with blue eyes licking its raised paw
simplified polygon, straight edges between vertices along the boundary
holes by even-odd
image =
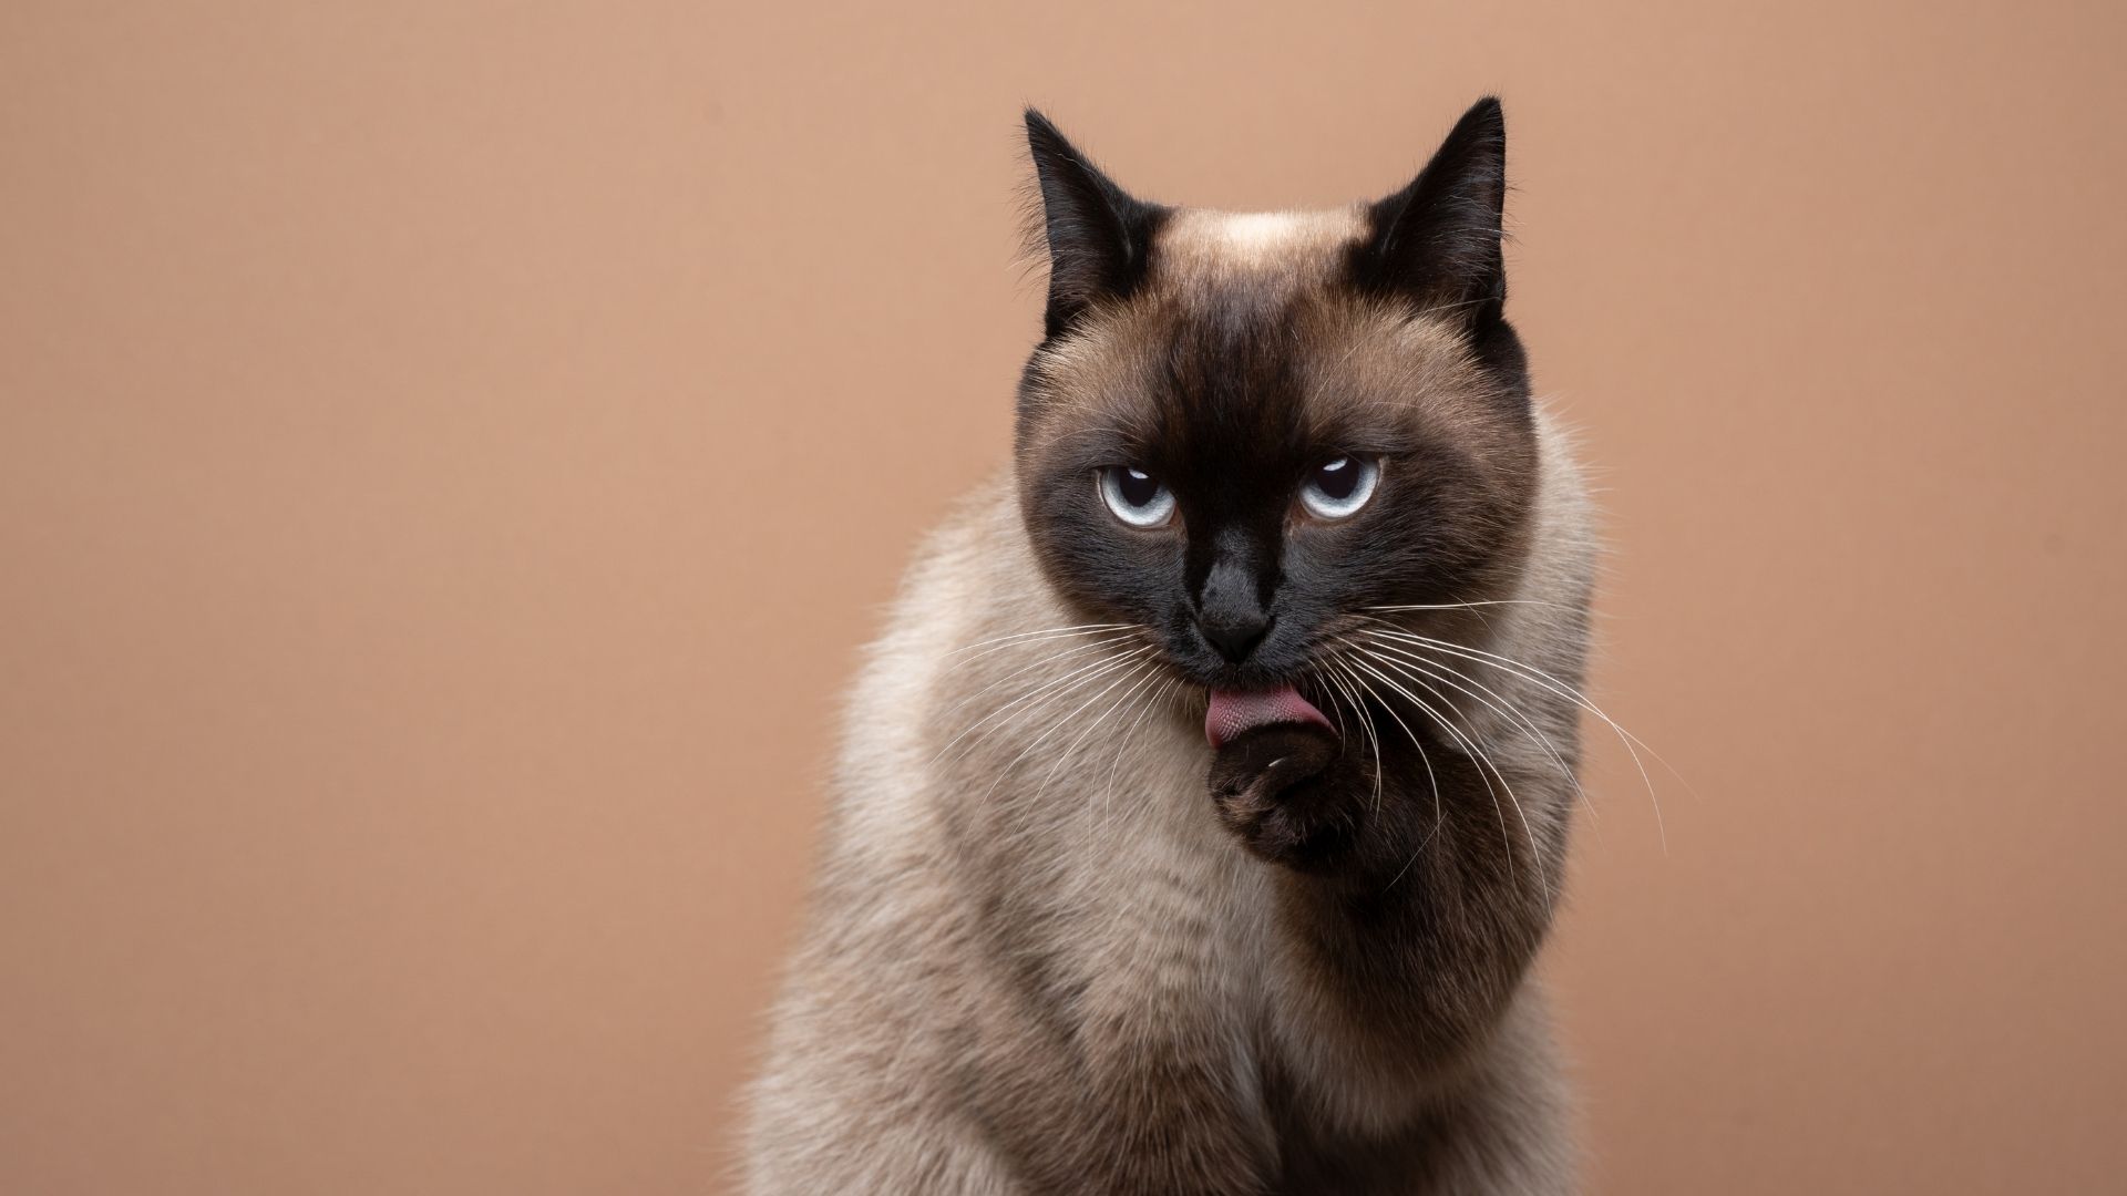
[[[751,1192],[1570,1192],[1595,538],[1500,102],[1304,215],[1025,123],[1044,334],[849,698]]]

